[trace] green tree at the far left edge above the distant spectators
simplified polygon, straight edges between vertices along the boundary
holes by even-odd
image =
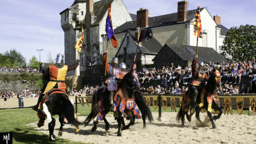
[[[3,52],[0,54],[0,67],[25,67],[26,66],[26,59],[19,51],[15,49]]]

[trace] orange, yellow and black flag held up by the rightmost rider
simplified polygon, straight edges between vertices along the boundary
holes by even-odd
[[[193,35],[203,38],[200,6],[198,7],[198,11],[196,12],[196,17],[195,17],[194,26],[193,26]]]

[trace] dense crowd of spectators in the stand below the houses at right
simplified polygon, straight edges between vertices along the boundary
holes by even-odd
[[[248,62],[235,62],[235,60],[232,60],[230,63],[204,63],[204,71],[206,71],[207,75],[211,75],[213,69],[218,69],[221,73],[222,88],[217,90],[218,95],[252,93],[250,86],[242,84],[241,79],[244,76],[248,76],[250,79],[256,77],[255,58]],[[191,66],[180,67],[178,65],[175,67],[173,63],[171,63],[171,66],[162,67],[161,69],[156,69],[155,67],[146,69],[144,67],[142,71],[138,72],[138,77],[141,84],[150,85],[150,81],[162,81],[162,87],[158,85],[155,88],[153,86],[141,88],[142,93],[149,94],[183,94],[190,88],[193,78]],[[179,86],[181,84],[183,85],[182,87]]]

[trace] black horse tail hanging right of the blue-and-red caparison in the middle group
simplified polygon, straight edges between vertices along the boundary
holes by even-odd
[[[133,96],[134,96],[135,103],[138,105],[138,108],[140,108],[142,117],[147,116],[149,122],[151,122],[153,120],[153,116],[152,116],[152,113],[151,113],[149,107],[147,106],[147,104],[144,101],[143,95],[140,92],[136,91],[133,93]]]

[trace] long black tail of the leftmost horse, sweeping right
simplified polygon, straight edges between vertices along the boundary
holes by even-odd
[[[79,123],[76,118],[75,118],[75,110],[74,110],[74,105],[71,103],[70,100],[68,100],[67,97],[64,94],[61,94],[61,96],[56,96],[56,102],[58,103],[61,112],[64,113],[65,118],[70,122],[72,126],[79,126]]]

